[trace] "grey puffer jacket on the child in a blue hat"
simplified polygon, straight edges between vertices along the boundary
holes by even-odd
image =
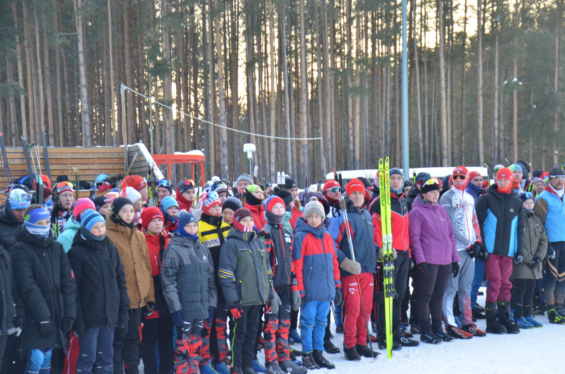
[[[169,311],[182,309],[187,320],[207,319],[208,307],[218,305],[210,251],[198,239],[171,237],[160,278]]]

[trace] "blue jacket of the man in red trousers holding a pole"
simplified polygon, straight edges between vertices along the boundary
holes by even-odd
[[[333,218],[329,223],[328,233],[335,242],[334,247],[337,251],[337,261],[341,262],[351,256],[351,249],[347,241],[346,227],[343,212]],[[373,240],[373,220],[371,214],[366,210],[351,209],[347,212],[350,227],[352,228],[351,241],[355,250],[355,260],[361,264],[362,273],[375,273],[377,266],[377,247]],[[341,269],[341,278],[353,275]]]

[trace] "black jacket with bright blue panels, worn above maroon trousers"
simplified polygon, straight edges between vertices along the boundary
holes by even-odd
[[[475,208],[481,228],[482,246],[501,256],[522,254],[524,250],[524,208],[514,194],[498,192],[497,184],[477,201]]]

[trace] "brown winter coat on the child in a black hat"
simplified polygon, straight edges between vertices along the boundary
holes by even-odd
[[[155,302],[151,261],[145,236],[137,228],[130,229],[106,219],[106,236],[118,249],[124,266],[129,307],[142,308],[147,301]]]

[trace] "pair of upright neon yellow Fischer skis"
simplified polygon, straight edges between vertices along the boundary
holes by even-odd
[[[386,355],[392,358],[392,299],[394,296],[394,262],[392,256],[392,227],[390,224],[389,158],[379,160],[379,189],[381,232],[383,233],[383,284],[385,293]]]

